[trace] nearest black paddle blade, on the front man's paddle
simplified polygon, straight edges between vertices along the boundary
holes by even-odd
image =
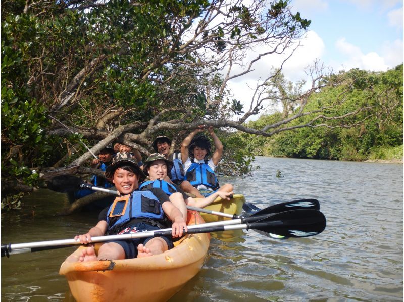
[[[320,234],[326,227],[326,219],[318,210],[292,210],[271,215],[249,223],[249,228],[285,237],[309,237]]]

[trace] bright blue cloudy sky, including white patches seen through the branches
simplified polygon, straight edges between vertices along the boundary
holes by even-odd
[[[293,13],[300,12],[302,18],[312,23],[300,40],[300,46],[283,65],[282,72],[288,80],[304,79],[309,86],[310,77],[305,68],[314,61],[323,63],[332,72],[352,68],[386,71],[403,63],[402,1],[291,0],[289,5]],[[234,98],[240,100],[244,108],[249,108],[254,92],[251,88],[272,67],[280,67],[284,58],[264,58],[254,67],[254,72],[229,81]],[[276,108],[271,104],[266,106],[268,113]],[[257,118],[252,116],[248,120]]]

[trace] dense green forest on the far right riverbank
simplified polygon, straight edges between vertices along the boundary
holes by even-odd
[[[368,159],[401,159],[403,156],[403,66],[398,65],[386,72],[369,72],[352,69],[341,73],[344,77],[355,79],[354,85],[343,93],[345,87],[327,87],[312,94],[308,106],[313,109],[321,106],[327,99],[341,95],[346,102],[330,110],[342,116],[360,104],[372,106],[369,111],[348,118],[348,125],[335,128],[313,127],[298,128],[279,133],[270,138],[237,133],[246,152],[254,155],[274,157],[311,158],[330,160],[364,161]],[[368,88],[372,87],[371,90]],[[297,109],[296,109],[297,110]],[[256,121],[247,123],[248,127],[260,128],[283,119],[281,112],[261,115]],[[306,123],[311,115],[301,117],[292,124]],[[352,127],[350,127],[352,126]],[[350,128],[349,128],[350,127]]]

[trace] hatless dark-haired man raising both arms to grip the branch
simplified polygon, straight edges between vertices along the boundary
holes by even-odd
[[[215,168],[223,153],[223,145],[220,139],[213,131],[213,127],[208,128],[208,132],[215,143],[215,152],[212,158],[208,160],[211,152],[211,143],[204,135],[195,137],[196,134],[203,132],[204,126],[200,125],[192,131],[181,143],[181,159],[184,163],[185,180],[202,191],[204,196],[208,196],[212,192],[233,191],[233,185],[226,183],[223,186],[219,185],[219,181],[215,175]]]

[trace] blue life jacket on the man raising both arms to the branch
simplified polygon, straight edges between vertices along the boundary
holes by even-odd
[[[188,180],[195,188],[204,185],[216,190],[219,188],[219,181],[215,172],[207,163],[192,163],[185,174],[184,180]]]

